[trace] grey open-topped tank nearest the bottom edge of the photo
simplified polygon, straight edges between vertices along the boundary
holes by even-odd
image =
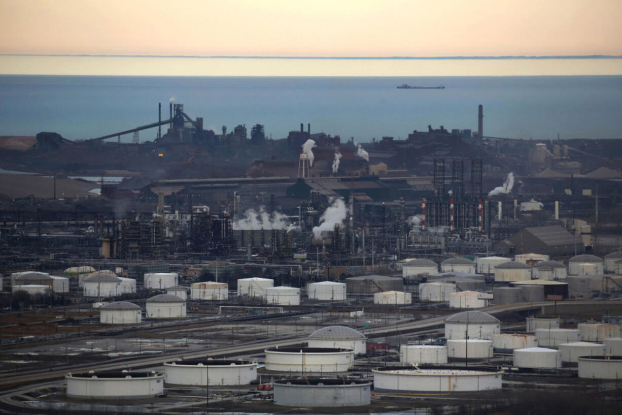
[[[371,402],[371,382],[360,379],[285,379],[273,386],[274,404],[281,406],[335,408]]]

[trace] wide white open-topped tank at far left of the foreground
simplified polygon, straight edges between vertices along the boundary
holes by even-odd
[[[67,396],[83,399],[146,399],[164,393],[161,372],[93,372],[67,374]]]

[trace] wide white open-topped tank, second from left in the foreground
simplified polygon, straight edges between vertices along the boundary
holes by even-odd
[[[257,379],[257,362],[246,360],[177,360],[164,363],[167,384],[234,386]]]

